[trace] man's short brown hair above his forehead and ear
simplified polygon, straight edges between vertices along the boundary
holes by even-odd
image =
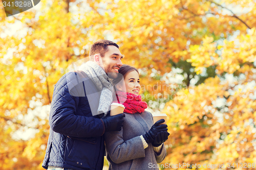
[[[102,39],[102,40],[96,41],[91,46],[91,49],[89,52],[90,61],[94,61],[93,55],[95,54],[100,54],[101,57],[104,57],[105,53],[109,51],[109,48],[108,48],[109,45],[114,45],[117,48],[119,48],[119,46],[115,42],[112,42],[109,40]]]

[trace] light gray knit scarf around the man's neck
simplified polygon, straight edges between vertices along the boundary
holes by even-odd
[[[97,113],[104,113],[105,116],[109,111],[113,100],[113,86],[110,83],[108,75],[106,75],[105,71],[93,61],[88,61],[82,64],[79,70],[86,72],[87,76],[93,81],[97,89],[101,91]]]

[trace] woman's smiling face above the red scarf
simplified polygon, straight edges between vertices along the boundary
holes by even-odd
[[[140,79],[138,72],[136,70],[129,72],[124,78],[124,83],[118,84],[117,88],[123,92],[139,95]]]

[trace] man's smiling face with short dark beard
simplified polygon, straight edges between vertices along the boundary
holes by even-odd
[[[123,65],[121,59],[123,58],[119,49],[114,45],[108,45],[108,51],[102,57],[103,67],[109,78],[114,79],[118,75],[119,68]]]

